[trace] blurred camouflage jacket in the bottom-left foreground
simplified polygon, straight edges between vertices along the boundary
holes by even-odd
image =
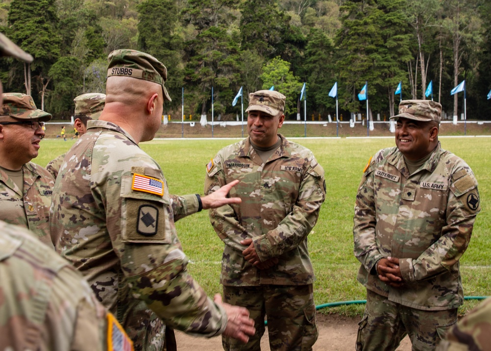
[[[2,221],[0,295],[1,350],[108,350],[107,312],[82,275]]]

